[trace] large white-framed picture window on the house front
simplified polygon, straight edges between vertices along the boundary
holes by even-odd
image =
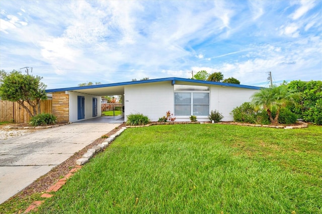
[[[209,93],[175,92],[175,116],[191,115],[209,115]]]

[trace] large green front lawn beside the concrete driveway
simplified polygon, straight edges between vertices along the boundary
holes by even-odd
[[[39,213],[321,213],[322,127],[125,130]]]

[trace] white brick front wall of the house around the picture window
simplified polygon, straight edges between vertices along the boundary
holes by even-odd
[[[255,89],[210,86],[210,111],[219,111],[222,121],[233,121],[230,112],[244,102],[251,101]],[[174,113],[174,86],[171,82],[154,82],[126,85],[124,89],[125,118],[129,114],[141,113],[151,121],[157,121],[167,111]],[[209,121],[208,117],[197,117],[198,122]],[[176,117],[176,122],[190,121],[189,117]]]

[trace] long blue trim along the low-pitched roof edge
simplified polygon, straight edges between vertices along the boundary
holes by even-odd
[[[101,84],[101,85],[88,85],[88,86],[77,86],[77,87],[67,87],[67,88],[55,88],[55,89],[47,89],[46,92],[58,92],[58,91],[69,91],[69,90],[81,90],[81,89],[90,89],[90,88],[102,88],[102,87],[112,87],[112,86],[122,86],[122,85],[134,85],[134,84],[142,84],[142,83],[152,83],[152,82],[164,82],[171,81],[172,84],[176,81],[183,82],[191,82],[191,83],[201,83],[208,85],[220,85],[224,87],[238,87],[238,88],[247,88],[247,89],[261,89],[261,87],[250,86],[250,85],[240,85],[240,84],[232,84],[225,82],[212,82],[212,81],[204,81],[197,79],[186,79],[179,77],[167,77],[167,78],[159,78],[159,79],[148,79],[148,80],[139,80],[139,81],[130,81],[130,82],[119,82],[119,83],[110,83],[110,84]]]

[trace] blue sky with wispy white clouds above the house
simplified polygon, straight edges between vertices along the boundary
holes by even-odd
[[[0,15],[0,69],[33,67],[47,89],[192,70],[322,80],[322,1],[1,0]]]

